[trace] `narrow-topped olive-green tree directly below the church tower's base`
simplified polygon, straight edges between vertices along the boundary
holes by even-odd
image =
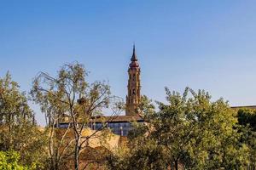
[[[155,114],[152,100],[143,95],[138,111],[145,122],[132,122],[133,128],[128,133],[129,143],[106,157],[107,167],[111,170],[166,170],[166,150],[154,139],[148,138],[152,130],[150,121]]]

